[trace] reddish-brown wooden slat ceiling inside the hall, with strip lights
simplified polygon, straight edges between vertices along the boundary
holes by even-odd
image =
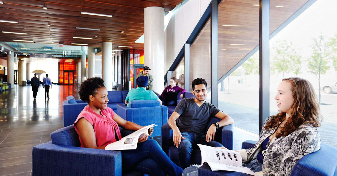
[[[71,43],[100,47],[102,41],[111,41],[113,49],[118,46],[143,49],[143,43],[135,43],[144,34],[144,8],[163,7],[171,11],[182,0],[2,0],[1,31],[28,33],[28,35],[0,32],[0,41],[13,39],[33,40],[36,43]],[[47,9],[43,9],[47,7]],[[81,14],[81,12],[112,15],[112,17]],[[47,26],[50,24],[50,26]],[[83,30],[92,28],[100,29]],[[122,33],[121,31],[124,31]],[[89,37],[93,39],[75,39]]]

